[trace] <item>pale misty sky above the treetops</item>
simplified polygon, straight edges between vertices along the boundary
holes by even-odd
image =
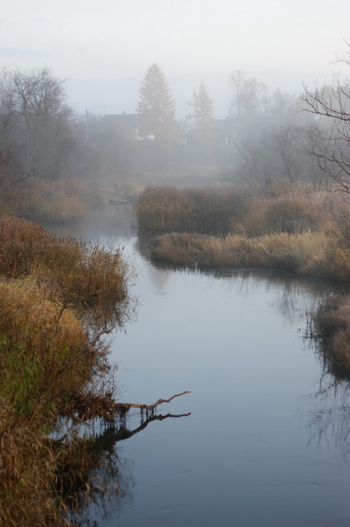
[[[346,74],[349,0],[1,0],[0,68],[48,67],[76,112],[135,112],[157,63],[188,112],[203,81],[226,117],[235,70],[292,93]],[[349,70],[349,67],[347,67]]]

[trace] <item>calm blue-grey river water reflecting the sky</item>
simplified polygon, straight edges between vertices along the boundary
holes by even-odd
[[[120,497],[91,506],[90,521],[349,526],[348,393],[303,339],[305,311],[328,287],[156,268],[115,227],[100,241],[123,245],[138,273],[137,320],[112,344],[121,400],[153,403],[190,390],[158,413],[191,415],[151,422],[116,443]],[[138,424],[135,412],[128,427]]]

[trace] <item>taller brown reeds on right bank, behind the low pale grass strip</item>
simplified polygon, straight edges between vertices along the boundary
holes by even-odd
[[[272,181],[267,186],[147,188],[135,207],[139,228],[166,232],[242,234],[332,230],[349,242],[350,204],[306,183]]]

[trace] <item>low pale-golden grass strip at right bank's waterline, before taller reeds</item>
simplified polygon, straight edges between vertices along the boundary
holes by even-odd
[[[259,238],[168,234],[155,240],[152,258],[182,266],[270,268],[348,280],[350,250],[323,233],[276,233]]]

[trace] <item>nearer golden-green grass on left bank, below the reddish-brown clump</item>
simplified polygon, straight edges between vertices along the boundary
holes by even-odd
[[[55,497],[63,454],[46,434],[58,415],[74,416],[76,399],[99,395],[93,378],[105,368],[105,348],[47,293],[31,276],[0,280],[0,524],[6,526],[64,523]],[[79,453],[74,458],[75,466],[84,462]]]

